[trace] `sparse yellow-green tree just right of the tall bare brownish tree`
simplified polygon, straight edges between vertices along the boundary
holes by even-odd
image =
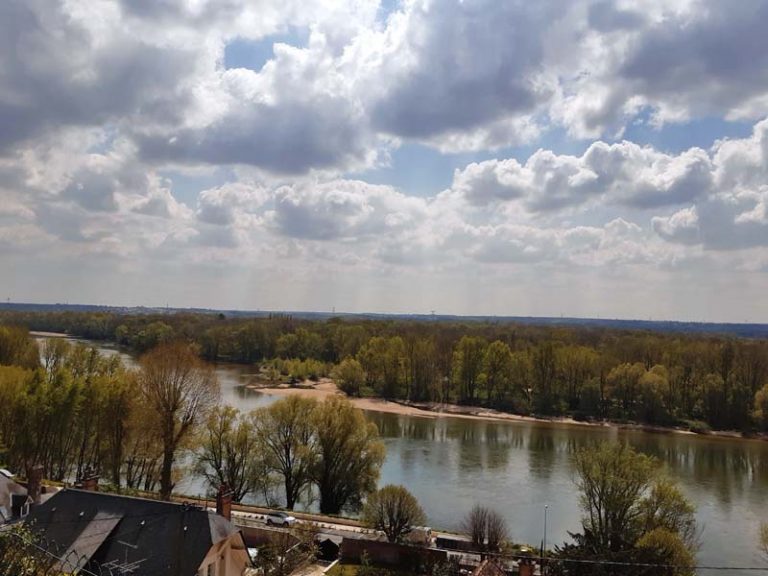
[[[211,488],[226,485],[232,499],[240,502],[259,480],[258,447],[251,420],[231,406],[218,407],[211,412],[203,431],[198,470]]]

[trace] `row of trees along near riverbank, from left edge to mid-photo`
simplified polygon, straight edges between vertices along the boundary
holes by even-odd
[[[0,326],[0,467],[41,465],[59,482],[95,472],[165,499],[197,472],[236,501],[293,509],[317,497],[337,514],[375,489],[384,455],[376,425],[343,396],[292,396],[249,414],[222,406],[212,366],[186,343],[126,369],[117,355]]]

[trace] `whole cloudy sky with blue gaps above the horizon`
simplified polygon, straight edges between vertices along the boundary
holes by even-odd
[[[4,0],[0,298],[768,322],[766,23]]]

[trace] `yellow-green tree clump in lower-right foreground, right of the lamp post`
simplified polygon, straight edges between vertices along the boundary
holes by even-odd
[[[556,550],[552,573],[647,573],[647,567],[629,564],[663,564],[675,576],[693,573],[694,507],[670,480],[658,478],[655,459],[604,443],[579,450],[574,463],[583,531],[571,534],[575,544]],[[574,558],[587,562],[566,560]]]

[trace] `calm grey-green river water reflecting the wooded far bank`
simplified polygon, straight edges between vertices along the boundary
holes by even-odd
[[[244,388],[252,367],[219,366],[217,373],[227,404],[247,411],[275,400]],[[768,442],[379,412],[366,416],[387,446],[380,483],[406,486],[433,527],[458,529],[462,516],[480,503],[503,514],[514,541],[539,546],[547,506],[547,543],[561,543],[568,531],[579,529],[574,450],[623,441],[664,462],[665,473],[695,503],[700,564],[764,566],[768,574],[758,547],[760,522],[768,522]],[[204,489],[197,479],[188,479],[184,487]]]

